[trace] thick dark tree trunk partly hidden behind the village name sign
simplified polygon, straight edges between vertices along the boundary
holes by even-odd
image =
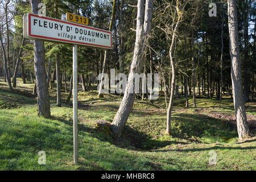
[[[30,0],[31,11],[38,14],[38,4],[40,0]],[[38,92],[38,115],[50,117],[49,93],[46,84],[46,69],[44,68],[44,42],[34,40],[34,65],[36,76],[36,90]]]

